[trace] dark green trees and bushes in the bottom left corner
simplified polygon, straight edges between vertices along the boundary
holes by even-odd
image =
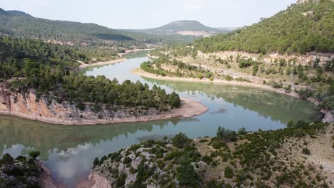
[[[8,153],[0,159],[0,187],[40,187],[39,177],[43,169],[36,162],[39,152],[27,159],[19,156],[14,159]],[[38,154],[38,155],[37,155]]]

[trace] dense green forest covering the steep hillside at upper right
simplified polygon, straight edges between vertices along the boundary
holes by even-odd
[[[251,53],[334,52],[334,3],[330,0],[293,4],[259,23],[228,34],[195,41],[203,52]]]

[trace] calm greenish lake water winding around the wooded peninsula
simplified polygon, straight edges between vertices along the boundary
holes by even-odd
[[[108,66],[90,67],[86,75],[106,75],[107,78],[140,80],[175,90],[181,97],[197,100],[209,110],[192,118],[173,118],[152,122],[131,122],[112,125],[50,125],[0,115],[0,155],[16,157],[39,150],[41,160],[51,169],[54,179],[66,187],[86,179],[95,157],[102,157],[128,147],[149,136],[175,135],[185,132],[188,137],[215,136],[219,126],[231,130],[246,127],[255,131],[285,127],[289,120],[320,120],[322,115],[313,104],[288,95],[258,88],[208,83],[183,83],[142,78],[131,73],[143,61],[144,53],[131,54],[125,62]]]

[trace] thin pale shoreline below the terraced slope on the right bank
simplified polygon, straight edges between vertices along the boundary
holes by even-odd
[[[293,98],[300,98],[297,93],[294,93],[291,91],[290,93],[286,93],[284,88],[276,89],[272,88],[269,85],[262,85],[259,83],[248,83],[248,82],[238,82],[235,80],[209,80],[207,78],[198,79],[198,78],[178,78],[178,77],[172,77],[172,76],[162,76],[162,75],[156,75],[153,73],[148,73],[146,71],[143,71],[141,68],[134,68],[131,70],[131,73],[134,73],[136,75],[140,75],[146,78],[153,78],[157,80],[170,80],[170,81],[182,81],[182,82],[193,82],[193,83],[213,83],[213,84],[227,84],[227,85],[240,85],[240,86],[248,86],[253,88],[260,88],[264,90],[271,90],[276,93],[282,93],[284,95],[289,95]],[[313,98],[307,98],[305,99],[310,103],[316,104],[316,101]],[[320,113],[323,113],[323,118],[321,119],[322,122],[334,122],[334,116],[331,114],[330,110],[319,110]]]

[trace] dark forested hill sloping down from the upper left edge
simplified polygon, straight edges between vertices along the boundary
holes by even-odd
[[[41,40],[88,43],[96,41],[135,41],[128,33],[93,23],[39,19],[21,11],[0,10],[0,31],[5,34]]]

